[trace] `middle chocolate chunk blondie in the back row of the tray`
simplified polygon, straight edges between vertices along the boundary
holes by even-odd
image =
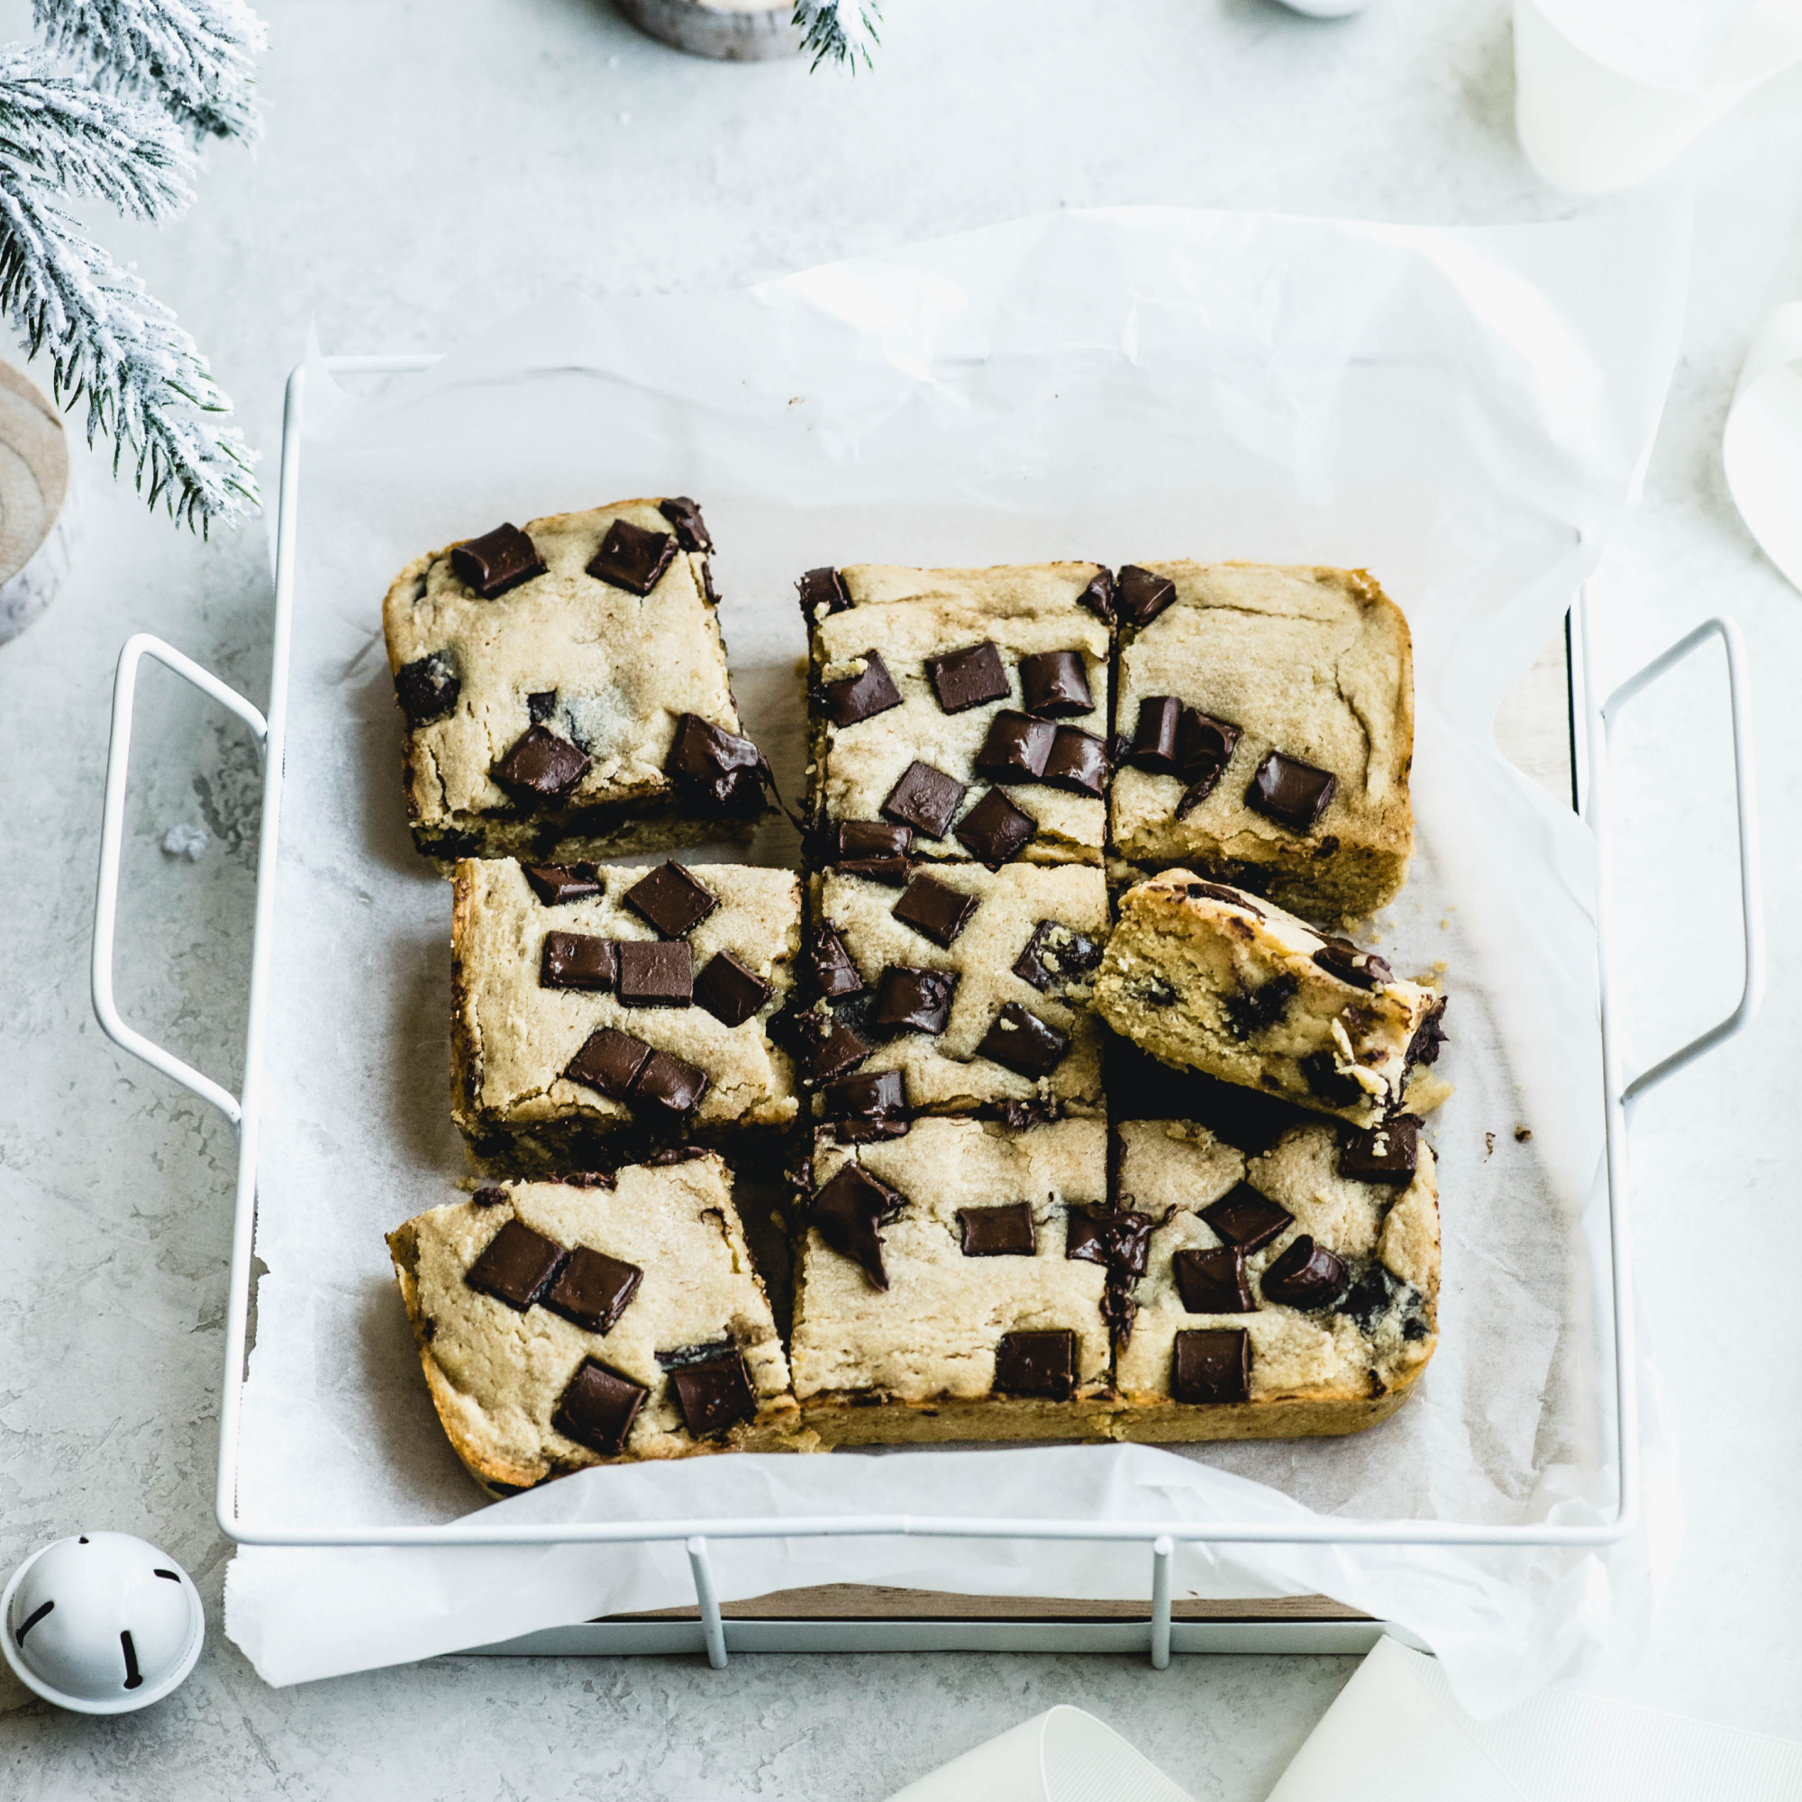
[[[901,827],[917,858],[1099,863],[1108,575],[1099,564],[811,569],[809,824]]]

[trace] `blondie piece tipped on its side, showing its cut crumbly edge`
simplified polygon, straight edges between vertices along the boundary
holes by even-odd
[[[1373,1126],[1436,1051],[1442,997],[1348,939],[1189,870],[1121,896],[1094,986],[1115,1033],[1166,1063]]]

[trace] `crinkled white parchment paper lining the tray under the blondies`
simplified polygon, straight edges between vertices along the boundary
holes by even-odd
[[[1133,209],[1025,220],[728,296],[555,299],[377,398],[310,373],[240,1506],[258,1526],[445,1521],[382,1234],[450,1198],[449,888],[413,854],[378,602],[499,519],[694,494],[741,703],[800,793],[815,564],[1243,557],[1373,569],[1415,634],[1420,851],[1379,921],[1452,1006],[1434,1121],[1442,1342],[1348,1440],[892,1451],[609,1469],[530,1519],[910,1512],[1589,1521],[1613,1497],[1591,843],[1494,750],[1629,499],[1669,380],[1687,225],[1663,209],[1415,231]],[[791,861],[787,825],[757,856]],[[1530,1137],[1519,1137],[1524,1130]],[[1654,1470],[1656,1407],[1647,1409]],[[1656,1485],[1654,1485],[1656,1487]],[[715,1543],[728,1598],[865,1580],[1148,1591],[1142,1548]],[[1517,1699],[1620,1631],[1643,1544],[1182,1548],[1177,1593],[1324,1591]],[[231,1636],[299,1681],[692,1600],[679,1546],[247,1550]]]

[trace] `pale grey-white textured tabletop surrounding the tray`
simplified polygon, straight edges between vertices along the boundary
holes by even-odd
[[[4,7],[18,34],[25,7]],[[874,76],[706,65],[602,0],[265,5],[268,139],[214,153],[173,232],[112,229],[274,449],[310,317],[332,350],[432,348],[557,281],[717,285],[1058,204],[1168,200],[1422,222],[1557,216],[1510,126],[1501,0],[1386,0],[1315,23],[1265,0],[894,0]],[[616,59],[616,61],[613,61]],[[1688,1539],[1636,1701],[1802,1734],[1802,1315],[1780,1272],[1798,1159],[1784,935],[1798,890],[1802,602],[1726,497],[1719,431],[1757,323],[1802,296],[1802,76],[1687,160],[1701,178],[1685,362],[1647,506],[1606,582],[1613,672],[1726,607],[1759,683],[1771,1002],[1640,1121],[1640,1285],[1685,1456]],[[499,245],[506,234],[505,247]],[[272,476],[272,465],[268,467]],[[162,633],[261,699],[259,535],[189,542],[77,458],[94,528],[63,600],[0,651],[0,1557],[81,1523],[141,1532],[216,1607],[211,1530],[231,1133],[114,1052],[86,1000],[112,661]],[[1694,715],[1685,714],[1694,708]],[[1647,697],[1622,896],[1645,908],[1629,1043],[1649,1060],[1737,982],[1719,674]],[[121,1000],[236,1070],[254,759],[157,672],[128,809]],[[1696,730],[1690,719],[1696,721]],[[198,777],[196,777],[198,771]],[[205,824],[198,863],[157,849]],[[1703,923],[1688,924],[1690,921]],[[1665,924],[1674,923],[1674,924]],[[1661,973],[1660,980],[1652,980]],[[1728,1256],[1721,1256],[1721,1249]],[[1701,1254],[1706,1252],[1706,1258]],[[1706,1276],[1699,1272],[1708,1272]],[[1716,1323],[1732,1319],[1728,1335]],[[1198,1798],[1263,1797],[1342,1660],[449,1660],[270,1692],[216,1631],[195,1678],[124,1723],[0,1688],[0,1789],[31,1798],[876,1798],[1058,1701],[1090,1708]]]

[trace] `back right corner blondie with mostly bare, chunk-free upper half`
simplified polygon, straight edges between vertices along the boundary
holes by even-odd
[[[1407,876],[1407,622],[1362,569],[1160,562],[1117,578],[1112,849],[1371,914]]]

